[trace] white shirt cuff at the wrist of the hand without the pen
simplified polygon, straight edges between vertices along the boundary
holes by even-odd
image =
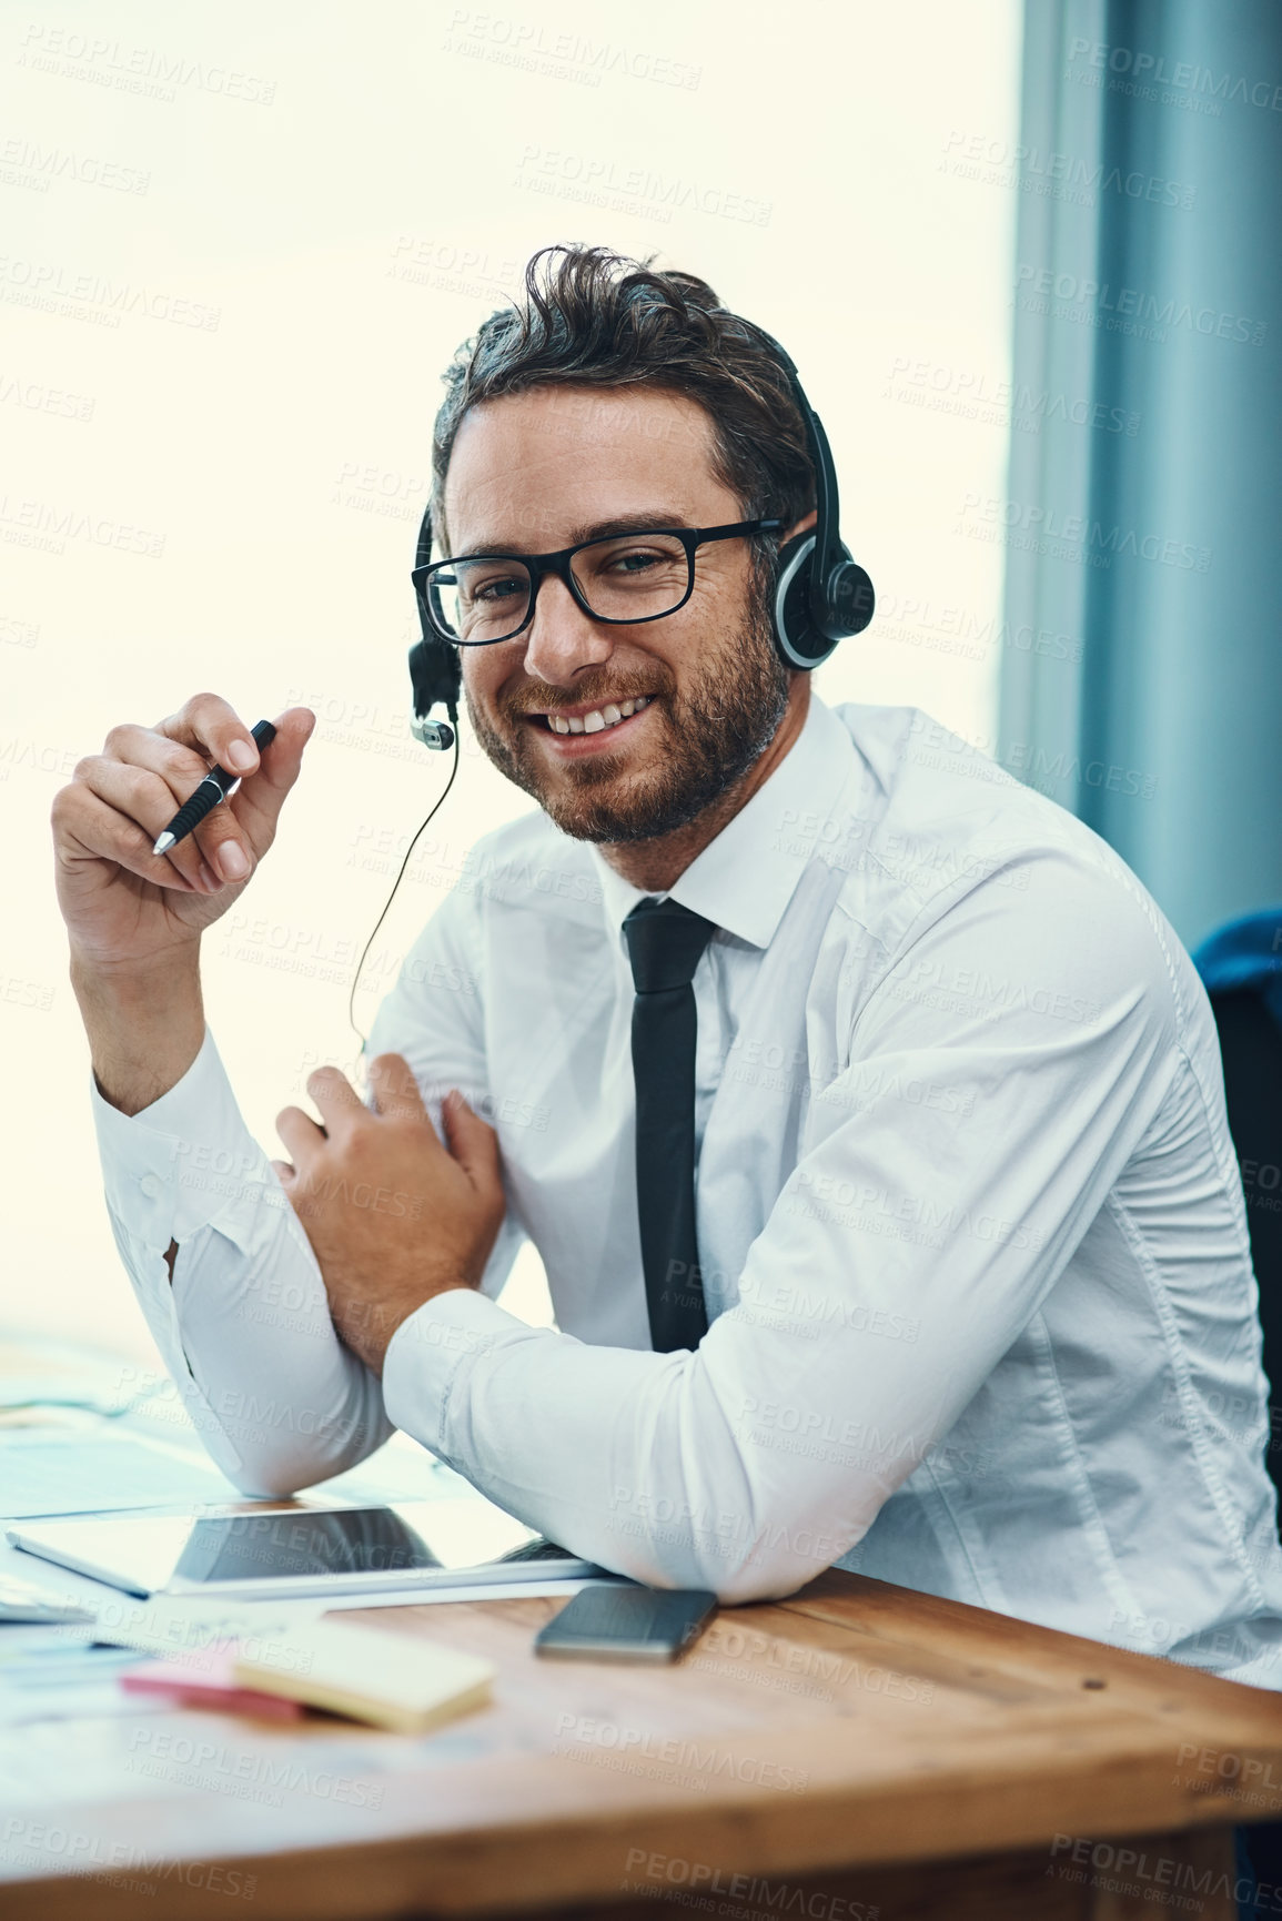
[[[382,1406],[402,1433],[450,1460],[446,1422],[461,1366],[540,1329],[471,1287],[448,1287],[400,1324],[382,1362]],[[548,1329],[542,1329],[544,1333]]]

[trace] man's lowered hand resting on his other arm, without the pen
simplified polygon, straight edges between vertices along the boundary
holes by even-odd
[[[504,1220],[498,1135],[457,1089],[440,1143],[402,1055],[369,1066],[371,1112],[338,1068],[308,1080],[323,1126],[277,1114],[292,1162],[273,1160],[321,1266],[340,1339],[377,1375],[415,1308],[477,1287]]]

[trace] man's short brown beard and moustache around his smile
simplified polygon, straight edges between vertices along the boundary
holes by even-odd
[[[523,690],[525,707],[504,713],[502,734],[479,711],[471,692],[465,692],[471,724],[490,761],[573,839],[642,841],[688,826],[765,753],[788,707],[788,669],[775,651],[759,590],[752,596],[744,624],[715,647],[702,649],[698,669],[680,695],[671,667],[657,657],[644,684],[629,688],[625,678],[604,669],[602,701],[653,693],[657,701],[650,730],[661,728],[663,738],[650,749],[652,755],[657,753],[657,765],[623,776],[623,784],[621,770],[630,747],[619,755],[598,749],[548,768],[534,740],[527,738],[530,722],[525,717],[555,711],[563,690],[530,682]],[[577,707],[596,693],[598,688],[584,678],[567,705]]]

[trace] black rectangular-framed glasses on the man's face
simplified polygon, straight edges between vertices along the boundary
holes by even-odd
[[[457,647],[515,640],[534,619],[548,574],[563,580],[575,603],[607,626],[663,620],[694,592],[694,555],[709,540],[775,534],[782,521],[736,521],[732,526],[655,526],[600,534],[557,553],[456,553],[415,567],[409,578],[423,596],[434,632]]]

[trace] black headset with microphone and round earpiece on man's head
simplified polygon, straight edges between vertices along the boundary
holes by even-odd
[[[725,315],[725,307],[715,311]],[[851,559],[850,547],[842,544],[832,450],[823,421],[805,398],[792,359],[778,340],[761,327],[740,319],[740,315],[727,315],[727,319],[734,319],[753,332],[775,355],[805,426],[805,442],[815,469],[815,526],[807,534],[786,540],[778,549],[771,617],[775,647],[784,665],[819,667],[821,661],[828,659],[838,640],[861,634],[873,619],[873,582],[863,567]],[[415,569],[427,567],[431,557],[432,515],[429,507],[419,526]],[[423,638],[409,649],[409,684],[413,688],[409,732],[425,747],[454,747],[463,680],[459,651],[436,634],[427,615],[427,597],[417,588],[415,601]],[[450,722],[429,720],[432,707],[444,707]]]

